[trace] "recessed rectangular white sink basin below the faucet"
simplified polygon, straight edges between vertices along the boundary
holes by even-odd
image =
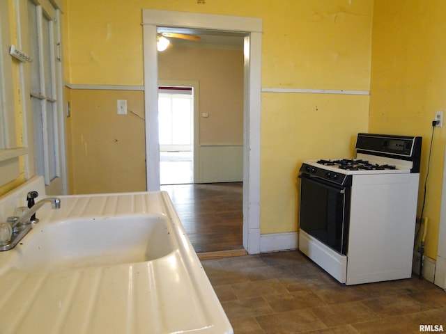
[[[17,248],[14,267],[59,271],[155,260],[174,251],[167,219],[134,214],[38,223]]]

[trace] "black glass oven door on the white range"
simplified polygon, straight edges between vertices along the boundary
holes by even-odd
[[[299,177],[300,228],[347,255],[351,187],[307,174]]]

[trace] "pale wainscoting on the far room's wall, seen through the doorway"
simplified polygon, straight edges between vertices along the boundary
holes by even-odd
[[[199,145],[195,183],[243,182],[243,145]]]

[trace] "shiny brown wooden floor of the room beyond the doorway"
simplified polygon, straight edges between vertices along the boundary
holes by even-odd
[[[167,191],[197,253],[243,248],[243,183],[176,184]]]

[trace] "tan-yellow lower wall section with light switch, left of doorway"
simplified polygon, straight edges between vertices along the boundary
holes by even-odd
[[[127,100],[117,115],[116,100]],[[146,190],[144,92],[70,91],[72,193]]]

